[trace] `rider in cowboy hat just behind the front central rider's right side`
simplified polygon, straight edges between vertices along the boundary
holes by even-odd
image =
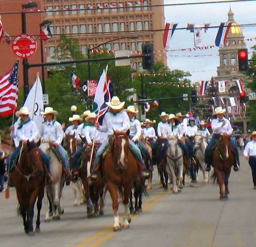
[[[138,143],[138,148],[146,156],[146,159],[149,161],[149,170],[152,171],[152,158],[149,155],[148,149],[143,142],[140,141],[141,136],[141,125],[140,121],[136,119],[135,114],[138,112],[134,106],[128,106],[124,111],[127,112],[127,115],[130,119],[130,139],[134,143]]]

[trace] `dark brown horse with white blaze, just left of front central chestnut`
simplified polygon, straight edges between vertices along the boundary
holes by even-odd
[[[92,162],[94,163],[96,148],[92,153]],[[88,218],[93,216],[92,207],[94,206],[94,216],[104,215],[104,189],[105,189],[105,181],[102,178],[99,172],[99,179],[96,182],[90,183],[89,177],[92,172],[92,165],[90,165],[92,147],[86,147],[85,152],[83,152],[83,163],[79,170],[80,178],[83,182],[83,186],[85,188],[85,197],[87,203],[87,216]]]

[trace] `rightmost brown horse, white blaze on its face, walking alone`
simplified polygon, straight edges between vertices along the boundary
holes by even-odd
[[[232,143],[230,142],[230,136],[221,135],[219,143],[216,148],[213,150],[213,168],[214,173],[211,175],[211,178],[216,180],[219,184],[220,189],[220,199],[228,199],[228,178],[230,176],[230,171],[235,162],[234,150]],[[224,186],[225,184],[225,191]]]

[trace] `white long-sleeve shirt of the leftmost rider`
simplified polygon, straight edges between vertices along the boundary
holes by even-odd
[[[30,120],[28,123],[24,124],[22,128],[18,129],[20,125],[20,120],[17,120],[14,124],[14,130],[11,135],[17,140],[17,144],[23,140],[29,140],[37,142],[40,138],[39,130],[34,121]],[[17,146],[17,145],[16,145]]]

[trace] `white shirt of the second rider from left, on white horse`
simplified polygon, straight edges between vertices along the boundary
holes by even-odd
[[[64,132],[59,122],[56,120],[51,120],[51,122],[43,122],[40,128],[40,135],[42,139],[49,139],[51,142],[56,142],[60,145]]]

